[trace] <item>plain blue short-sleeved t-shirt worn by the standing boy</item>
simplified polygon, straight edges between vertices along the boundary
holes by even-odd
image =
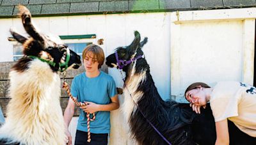
[[[78,102],[88,101],[96,104],[109,104],[110,98],[117,94],[114,79],[102,71],[95,78],[88,78],[85,72],[77,75],[72,81],[71,93],[77,97]],[[90,132],[108,134],[110,132],[110,112],[99,111],[95,114],[95,120],[90,121]],[[92,118],[92,114],[90,117]],[[86,113],[82,109],[80,109],[77,130],[87,132]]]

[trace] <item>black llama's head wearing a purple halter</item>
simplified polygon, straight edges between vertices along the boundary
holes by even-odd
[[[127,72],[129,71],[129,67],[131,68],[131,64],[134,64],[134,61],[137,62],[136,64],[140,64],[138,61],[141,62],[141,60],[143,64],[146,63],[145,67],[148,66],[141,50],[143,45],[147,43],[148,38],[144,38],[144,40],[140,42],[140,33],[138,31],[134,31],[134,36],[135,38],[131,45],[116,48],[115,53],[112,53],[106,58],[106,65],[108,67],[117,67]]]

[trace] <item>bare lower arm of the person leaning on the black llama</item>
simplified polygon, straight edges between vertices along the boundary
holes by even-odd
[[[225,120],[216,122],[215,125],[216,125],[216,134],[217,134],[215,145],[229,144],[227,118]]]

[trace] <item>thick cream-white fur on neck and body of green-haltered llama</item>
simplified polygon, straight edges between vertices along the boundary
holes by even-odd
[[[32,60],[24,72],[10,72],[10,97],[0,138],[23,144],[65,144],[60,107],[60,76]]]

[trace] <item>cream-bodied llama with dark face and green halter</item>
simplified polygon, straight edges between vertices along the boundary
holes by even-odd
[[[19,10],[24,29],[31,37],[10,30],[13,38],[22,43],[24,57],[9,74],[12,99],[6,121],[0,128],[0,144],[62,145],[66,136],[58,72],[78,69],[81,60],[60,41],[38,32],[25,6],[19,6]]]

